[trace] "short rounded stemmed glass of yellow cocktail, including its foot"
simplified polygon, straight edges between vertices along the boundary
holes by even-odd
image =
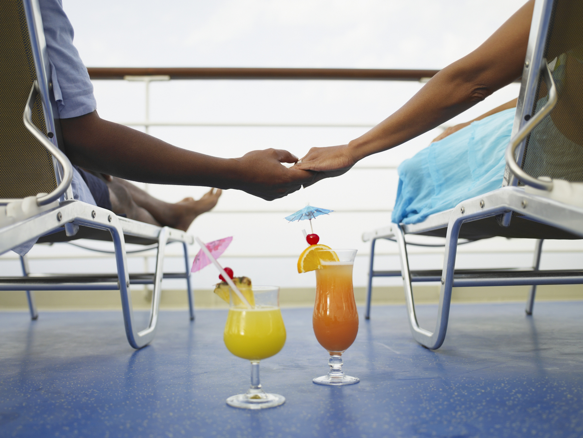
[[[279,310],[279,288],[250,286],[248,289],[244,296],[251,307],[229,290],[229,315],[223,339],[231,353],[251,361],[251,388],[245,394],[227,398],[227,404],[244,409],[273,408],[283,404],[286,399],[283,395],[262,390],[259,383],[259,360],[276,355],[286,343],[286,328]]]

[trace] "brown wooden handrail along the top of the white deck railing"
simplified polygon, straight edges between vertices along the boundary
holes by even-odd
[[[88,67],[91,79],[170,76],[170,79],[423,80],[439,70],[377,68]]]

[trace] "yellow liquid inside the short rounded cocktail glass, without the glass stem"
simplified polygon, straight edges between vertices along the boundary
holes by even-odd
[[[271,358],[286,343],[286,328],[278,307],[229,309],[224,345],[235,356],[248,360]]]

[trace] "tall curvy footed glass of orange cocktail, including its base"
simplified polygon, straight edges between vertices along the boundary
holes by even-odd
[[[342,353],[356,339],[359,314],[354,302],[352,266],[356,250],[317,250],[316,302],[312,314],[314,334],[329,353],[330,372],[312,381],[322,385],[357,383],[342,372]]]

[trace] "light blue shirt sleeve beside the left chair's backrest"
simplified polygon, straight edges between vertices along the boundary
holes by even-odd
[[[73,26],[61,0],[39,0],[51,66],[52,90],[60,118],[78,117],[97,108],[87,68],[73,45]]]

